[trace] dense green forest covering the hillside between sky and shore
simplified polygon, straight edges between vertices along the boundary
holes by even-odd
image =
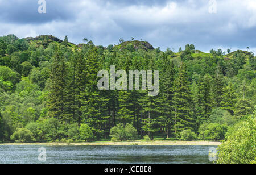
[[[111,65],[159,70],[159,94],[98,90],[98,71]],[[68,36],[3,36],[0,142],[225,140],[254,113],[255,73],[249,48],[204,53],[187,44],[174,52],[134,38],[103,47]]]

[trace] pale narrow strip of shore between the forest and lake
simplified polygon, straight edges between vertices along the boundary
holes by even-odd
[[[1,145],[42,145],[42,146],[85,146],[85,145],[194,145],[194,146],[218,146],[221,142],[217,141],[94,141],[81,143],[0,143]]]

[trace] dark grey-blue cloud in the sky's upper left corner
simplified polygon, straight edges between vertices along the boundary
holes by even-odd
[[[71,20],[75,18],[73,9],[69,9],[68,2],[47,1],[47,13],[38,13],[38,0],[8,0],[0,1],[0,20],[5,23],[40,24],[53,20]]]

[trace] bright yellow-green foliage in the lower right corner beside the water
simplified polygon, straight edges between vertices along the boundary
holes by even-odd
[[[256,157],[256,120],[252,115],[218,147],[220,164],[250,164]]]

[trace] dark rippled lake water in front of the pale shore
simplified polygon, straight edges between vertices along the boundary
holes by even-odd
[[[0,146],[0,163],[79,164],[201,164],[208,159],[210,146],[67,146],[46,148],[46,161],[39,161],[43,146]],[[214,147],[216,148],[216,147]]]

